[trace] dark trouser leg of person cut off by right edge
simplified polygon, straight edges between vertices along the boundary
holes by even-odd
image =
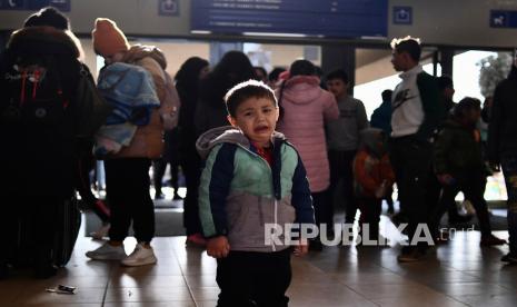
[[[504,157],[501,159],[503,174],[505,175],[506,190],[508,194],[508,234],[510,255],[517,256],[517,157]]]

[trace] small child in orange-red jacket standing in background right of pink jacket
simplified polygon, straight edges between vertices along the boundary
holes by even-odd
[[[382,198],[394,181],[395,174],[388,158],[386,135],[381,129],[368,128],[360,132],[361,145],[354,160],[355,190],[359,225],[369,226],[368,239],[378,240]],[[361,231],[362,232],[362,231]],[[367,236],[366,231],[362,234]],[[362,240],[367,239],[366,237]]]

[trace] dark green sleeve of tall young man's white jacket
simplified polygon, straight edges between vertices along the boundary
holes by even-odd
[[[444,97],[438,88],[436,78],[427,72],[421,72],[417,76],[417,87],[424,109],[424,122],[417,131],[417,138],[428,140],[446,117]]]

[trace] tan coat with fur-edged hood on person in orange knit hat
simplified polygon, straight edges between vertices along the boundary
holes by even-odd
[[[156,47],[136,44],[125,55],[122,62],[140,66],[151,73],[160,109],[152,111],[149,125],[138,127],[131,143],[112,158],[159,158],[163,151],[163,125],[160,113],[172,112],[171,99],[179,99],[176,89],[167,90],[167,87],[172,86],[169,82],[170,76],[166,72],[166,57]]]

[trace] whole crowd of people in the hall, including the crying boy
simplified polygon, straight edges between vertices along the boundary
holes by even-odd
[[[391,62],[401,81],[382,91],[368,121],[341,69],[320,76],[301,59],[268,75],[245,53],[229,51],[211,69],[207,60],[189,58],[171,78],[162,51],[131,44],[115,21],[97,19],[91,37],[106,66],[89,95],[78,96],[81,76],[90,75],[69,20],[56,9],[30,16],[2,53],[7,77],[0,92],[7,99],[0,133],[9,150],[0,152],[8,204],[0,221],[8,247],[0,255],[0,277],[16,266],[20,224],[32,225],[36,276],[56,274],[56,212],[74,190],[108,231],[109,239],[88,251],[89,258],[156,264],[152,164],[157,199],[167,164],[172,182],[181,167],[187,242],[205,246],[218,259],[219,306],[287,306],[291,249],[265,244],[267,224],[316,225],[319,235],[307,240],[300,232],[294,251],[321,250],[324,237],[340,236],[334,231],[341,222],[335,208],[344,204],[345,222],[356,222],[359,210],[359,234],[367,226],[376,240],[384,199],[395,214],[394,186],[400,204],[394,221],[407,224],[409,240],[421,226],[431,234],[430,242],[405,245],[400,263],[421,260],[444,238],[438,229],[446,211],[449,222],[469,218],[458,214],[459,191],[476,209],[480,245],[506,244],[491,234],[484,198],[486,177],[499,165],[508,190],[510,246],[503,261],[517,263],[517,61],[481,119],[478,99],[455,103],[451,79],[422,70],[418,39],[395,39]],[[96,95],[103,99],[84,98]],[[83,112],[98,108],[96,101],[109,112]],[[483,120],[487,139],[478,129]],[[95,130],[84,133],[78,122]],[[105,162],[106,200],[91,194],[93,159]],[[179,199],[178,185],[173,188]],[[123,241],[130,225],[138,244],[128,256]]]

